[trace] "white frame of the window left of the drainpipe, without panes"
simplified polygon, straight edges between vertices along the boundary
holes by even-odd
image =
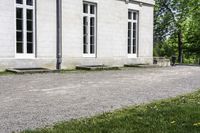
[[[14,16],[15,16],[15,58],[19,58],[19,59],[34,59],[36,58],[36,0],[33,0],[33,4],[32,5],[27,5],[26,4],[26,0],[23,0],[23,4],[18,4],[16,2],[16,0],[14,0],[14,5],[15,5],[15,11],[14,11]],[[23,53],[18,53],[17,52],[17,8],[21,8],[23,10],[23,40],[22,40],[22,44],[23,44]],[[33,47],[33,52],[32,53],[28,53],[27,51],[27,47],[28,47],[28,41],[27,41],[27,33],[30,33],[30,31],[27,30],[27,10],[32,10],[32,47]]]

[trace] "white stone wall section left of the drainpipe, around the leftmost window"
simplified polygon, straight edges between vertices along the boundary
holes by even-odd
[[[36,6],[36,58],[15,58],[15,1],[0,1],[0,69],[49,67],[56,64],[56,0],[39,0]]]

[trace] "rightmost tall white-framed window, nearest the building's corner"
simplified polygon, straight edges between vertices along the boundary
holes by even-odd
[[[128,11],[128,55],[137,57],[138,12]]]

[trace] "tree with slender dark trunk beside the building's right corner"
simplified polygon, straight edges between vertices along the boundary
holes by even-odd
[[[183,62],[184,22],[189,14],[188,0],[156,0],[154,41],[175,37],[178,43],[179,63]]]

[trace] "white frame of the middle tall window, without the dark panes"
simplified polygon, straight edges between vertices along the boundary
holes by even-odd
[[[87,13],[84,13],[84,4],[87,4],[87,7],[88,7]],[[90,13],[91,6],[94,6],[94,14]],[[83,25],[82,26],[83,27],[82,54],[83,54],[83,57],[93,57],[93,58],[95,58],[96,55],[97,55],[97,3],[83,1],[82,7],[83,7],[83,10],[82,10],[82,23],[83,23],[82,24]],[[88,40],[87,51],[88,51],[88,53],[84,53],[84,49],[85,49],[85,47],[84,47],[84,45],[85,45],[84,44],[84,36],[85,35],[84,35],[84,22],[83,22],[84,17],[87,18],[87,40]],[[94,35],[90,34],[91,33],[90,32],[91,31],[90,30],[90,28],[91,28],[91,23],[90,23],[91,18],[94,18]],[[92,53],[92,51],[90,49],[90,47],[92,46],[91,40],[90,40],[91,36],[94,37],[94,49],[93,49],[94,53]]]

